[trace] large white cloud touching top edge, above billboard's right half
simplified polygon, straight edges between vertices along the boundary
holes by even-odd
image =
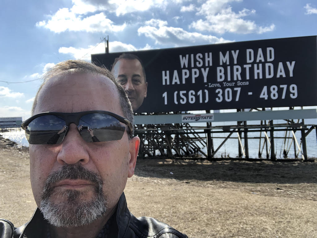
[[[258,26],[254,21],[245,20],[243,17],[254,15],[256,10],[243,9],[238,13],[232,11],[230,2],[242,2],[242,0],[208,0],[202,4],[197,15],[205,16],[205,20],[199,19],[190,24],[190,28],[199,31],[212,31],[218,34],[225,32],[249,34],[273,31],[275,25]]]

